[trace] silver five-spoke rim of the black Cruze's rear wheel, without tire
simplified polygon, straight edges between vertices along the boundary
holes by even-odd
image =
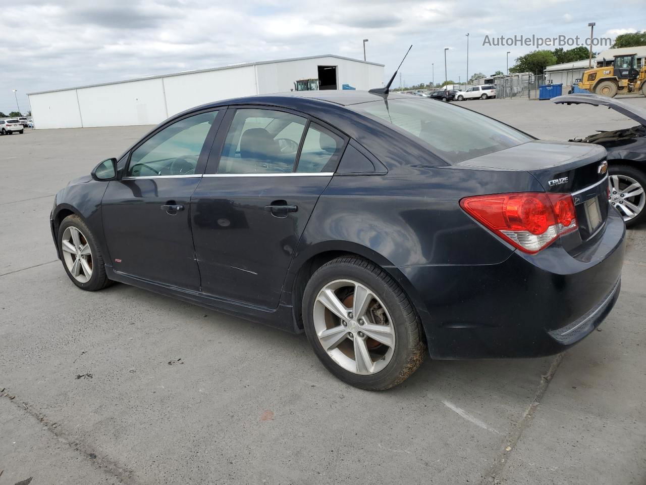
[[[346,371],[376,374],[393,357],[390,314],[368,286],[349,279],[328,283],[318,292],[313,320],[321,346]]]

